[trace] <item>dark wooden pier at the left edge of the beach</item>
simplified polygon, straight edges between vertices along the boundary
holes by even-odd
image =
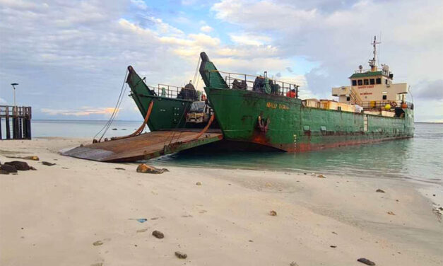
[[[0,139],[31,139],[30,106],[0,105]]]

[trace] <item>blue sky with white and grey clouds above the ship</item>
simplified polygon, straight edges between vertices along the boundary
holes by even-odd
[[[441,0],[0,0],[0,105],[19,83],[34,119],[107,120],[127,66],[148,84],[184,86],[201,51],[219,70],[268,71],[302,98],[332,98],[368,68],[377,35],[415,121],[443,122],[442,16]],[[143,120],[127,94],[117,119]]]

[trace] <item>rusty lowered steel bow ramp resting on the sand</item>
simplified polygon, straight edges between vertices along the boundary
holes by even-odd
[[[199,138],[199,132],[174,130],[155,131],[136,137],[102,141],[78,146],[64,151],[62,155],[104,162],[138,161],[174,154],[223,139],[221,132],[206,132]]]

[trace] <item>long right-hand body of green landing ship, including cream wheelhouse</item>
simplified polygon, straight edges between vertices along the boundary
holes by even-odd
[[[387,65],[332,88],[337,100],[300,99],[299,86],[263,76],[218,71],[201,52],[201,77],[225,141],[299,152],[413,137],[413,104],[406,83],[393,83]]]

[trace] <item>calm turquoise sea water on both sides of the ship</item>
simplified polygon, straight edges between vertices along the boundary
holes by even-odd
[[[34,120],[33,137],[92,137],[105,121]],[[116,121],[107,137],[134,132],[141,121]],[[122,130],[126,129],[126,131]],[[302,154],[179,153],[150,160],[175,166],[297,170],[364,177],[403,178],[443,184],[443,124],[415,124],[412,139],[345,146]]]

